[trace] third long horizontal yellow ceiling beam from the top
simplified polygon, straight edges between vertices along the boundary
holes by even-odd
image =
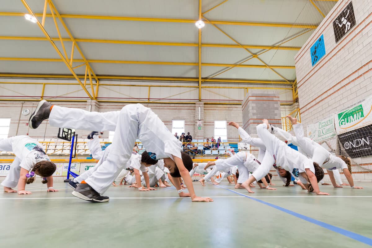
[[[33,61],[33,62],[62,62],[56,58],[0,58],[0,61]],[[89,63],[104,63],[104,64],[139,64],[139,65],[188,65],[198,66],[198,63],[192,62],[161,62],[161,61],[126,61],[126,60],[106,60],[106,59],[88,59]],[[83,59],[74,59],[74,62],[85,62]],[[243,67],[243,68],[267,68],[266,65],[235,65],[235,64],[216,64],[216,63],[201,63],[202,66],[216,67]],[[81,65],[80,65],[81,66]],[[80,67],[78,66],[78,67]],[[271,68],[280,69],[295,69],[292,65],[270,65]],[[77,67],[74,67],[77,68]]]

